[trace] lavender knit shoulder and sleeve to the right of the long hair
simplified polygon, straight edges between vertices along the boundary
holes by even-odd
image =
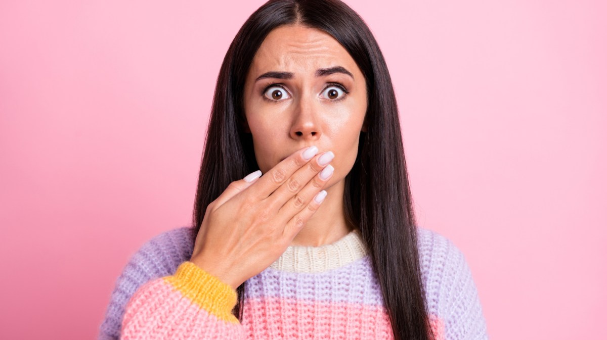
[[[446,237],[419,229],[422,278],[430,313],[444,321],[446,340],[486,340],[487,325],[472,272]]]

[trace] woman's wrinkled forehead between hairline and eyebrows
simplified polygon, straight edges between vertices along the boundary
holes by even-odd
[[[360,72],[354,59],[333,36],[317,28],[288,25],[274,28],[266,36],[253,58],[251,73],[313,73],[317,68],[336,65]]]

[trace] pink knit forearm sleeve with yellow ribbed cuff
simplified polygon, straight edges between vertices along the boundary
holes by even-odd
[[[142,285],[126,306],[121,339],[234,339],[245,332],[231,310],[232,287],[192,262]]]

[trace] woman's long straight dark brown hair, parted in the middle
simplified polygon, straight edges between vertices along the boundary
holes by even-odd
[[[194,204],[194,239],[207,206],[232,181],[259,169],[243,131],[243,89],[253,57],[281,25],[327,32],[350,53],[367,84],[367,132],[345,178],[344,212],[358,228],[378,279],[395,339],[433,339],[419,265],[418,238],[392,80],[362,18],[339,0],[270,0],[240,28],[217,78]],[[234,315],[242,320],[245,283]]]

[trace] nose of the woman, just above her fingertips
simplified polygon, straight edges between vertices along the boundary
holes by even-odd
[[[319,107],[314,101],[299,99],[293,112],[291,138],[296,140],[316,141],[320,138]]]

